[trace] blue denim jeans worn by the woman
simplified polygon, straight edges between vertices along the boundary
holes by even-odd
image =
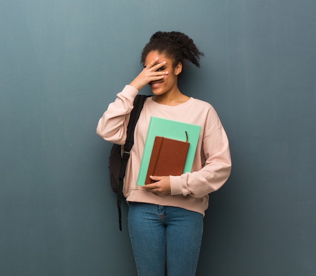
[[[131,202],[129,234],[138,276],[194,276],[203,216],[183,208]]]

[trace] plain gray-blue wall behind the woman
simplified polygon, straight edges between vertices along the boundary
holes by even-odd
[[[205,58],[180,87],[214,105],[229,181],[197,275],[316,275],[314,0],[0,1],[0,274],[136,275],[99,117],[157,30]],[[142,93],[149,93],[146,88]]]

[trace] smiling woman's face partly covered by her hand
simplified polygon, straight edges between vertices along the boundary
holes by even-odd
[[[166,64],[161,67],[160,71],[168,71],[168,75],[165,75],[163,79],[151,81],[148,83],[150,86],[152,93],[156,96],[163,95],[166,93],[173,93],[173,91],[178,91],[178,75],[180,74],[182,70],[182,64],[178,63],[176,67],[173,67],[173,60],[167,58],[164,54],[160,54],[156,51],[149,52],[147,55],[144,67],[147,66],[147,64],[153,60],[158,58],[157,63],[161,63],[163,61],[166,61]]]

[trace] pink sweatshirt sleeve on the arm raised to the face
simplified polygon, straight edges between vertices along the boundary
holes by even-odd
[[[130,112],[138,90],[126,85],[122,92],[117,95],[116,100],[111,103],[96,127],[96,133],[104,140],[124,145]]]

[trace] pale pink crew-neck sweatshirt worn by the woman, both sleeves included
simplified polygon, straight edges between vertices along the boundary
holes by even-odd
[[[96,132],[104,140],[124,145],[130,112],[138,90],[126,85],[100,118]],[[171,195],[158,195],[136,185],[150,117],[160,117],[201,126],[192,172],[170,176]],[[127,202],[175,206],[205,215],[208,194],[217,191],[231,171],[229,144],[215,109],[190,98],[177,106],[167,106],[147,98],[135,127],[134,146],[127,164],[123,193]]]

